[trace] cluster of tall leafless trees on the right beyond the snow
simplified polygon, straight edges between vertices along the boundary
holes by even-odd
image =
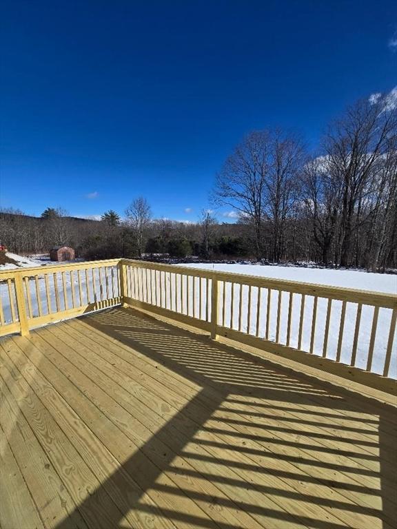
[[[252,132],[227,158],[214,198],[239,211],[258,258],[396,267],[396,113],[394,93],[358,101],[311,156],[294,134]]]

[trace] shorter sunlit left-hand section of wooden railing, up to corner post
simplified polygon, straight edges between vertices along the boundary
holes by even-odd
[[[0,272],[0,335],[120,304],[120,260]]]

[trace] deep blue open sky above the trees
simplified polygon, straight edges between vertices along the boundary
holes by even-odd
[[[1,206],[28,214],[143,195],[196,220],[245,133],[316,148],[346,105],[397,85],[395,1],[3,0],[0,18]]]

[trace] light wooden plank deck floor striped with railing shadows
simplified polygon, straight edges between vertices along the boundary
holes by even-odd
[[[396,527],[393,406],[126,309],[0,346],[1,529]]]

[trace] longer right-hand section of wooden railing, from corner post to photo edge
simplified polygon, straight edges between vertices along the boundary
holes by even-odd
[[[121,267],[131,285],[123,298],[125,304],[198,327],[212,338],[230,339],[397,394],[397,384],[389,372],[396,295],[141,260],[122,259]],[[204,289],[196,288],[198,280],[200,285],[205,282]],[[172,288],[178,293],[171,295]],[[173,303],[174,297],[181,300]],[[205,317],[203,311],[197,316],[194,307],[203,303]],[[323,320],[319,317],[321,307]],[[361,324],[365,311],[371,323],[363,359],[360,335],[368,331]],[[353,331],[348,332],[352,312]],[[375,374],[371,371],[381,332],[388,338],[382,373]],[[387,382],[383,377],[388,377]]]

